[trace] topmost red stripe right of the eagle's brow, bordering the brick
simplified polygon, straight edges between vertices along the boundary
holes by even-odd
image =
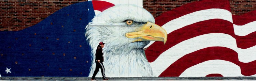
[[[173,19],[179,18],[181,16],[184,16],[186,14],[213,8],[231,11],[228,0],[202,0],[193,3],[188,3],[182,5],[181,7],[177,7],[171,11],[165,12],[157,18],[155,18],[155,23],[159,26],[163,26],[165,23]]]

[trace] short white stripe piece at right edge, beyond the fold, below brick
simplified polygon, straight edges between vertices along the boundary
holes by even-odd
[[[256,31],[256,21],[247,23],[242,26],[234,25],[234,33],[239,36],[245,36]]]

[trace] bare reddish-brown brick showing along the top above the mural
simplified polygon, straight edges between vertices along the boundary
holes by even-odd
[[[18,31],[33,26],[70,4],[87,0],[0,0],[0,31]],[[144,9],[154,17],[183,4],[199,0],[143,0]],[[255,0],[229,0],[231,13],[241,15],[256,10]]]

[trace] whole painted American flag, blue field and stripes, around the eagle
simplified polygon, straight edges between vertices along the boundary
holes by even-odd
[[[1,31],[0,77],[91,77],[93,48],[85,28],[113,6],[76,3],[24,30]],[[155,24],[167,32],[167,41],[144,47],[152,75],[135,77],[256,76],[255,14],[232,15],[229,0],[201,0],[161,14]],[[106,72],[106,77],[120,72]]]

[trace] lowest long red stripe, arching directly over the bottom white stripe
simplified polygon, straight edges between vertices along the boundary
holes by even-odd
[[[241,68],[241,74],[251,76],[256,74],[256,61],[242,63],[238,60],[236,51],[225,47],[208,47],[184,55],[171,64],[159,77],[179,77],[187,68],[209,60],[225,60]]]

